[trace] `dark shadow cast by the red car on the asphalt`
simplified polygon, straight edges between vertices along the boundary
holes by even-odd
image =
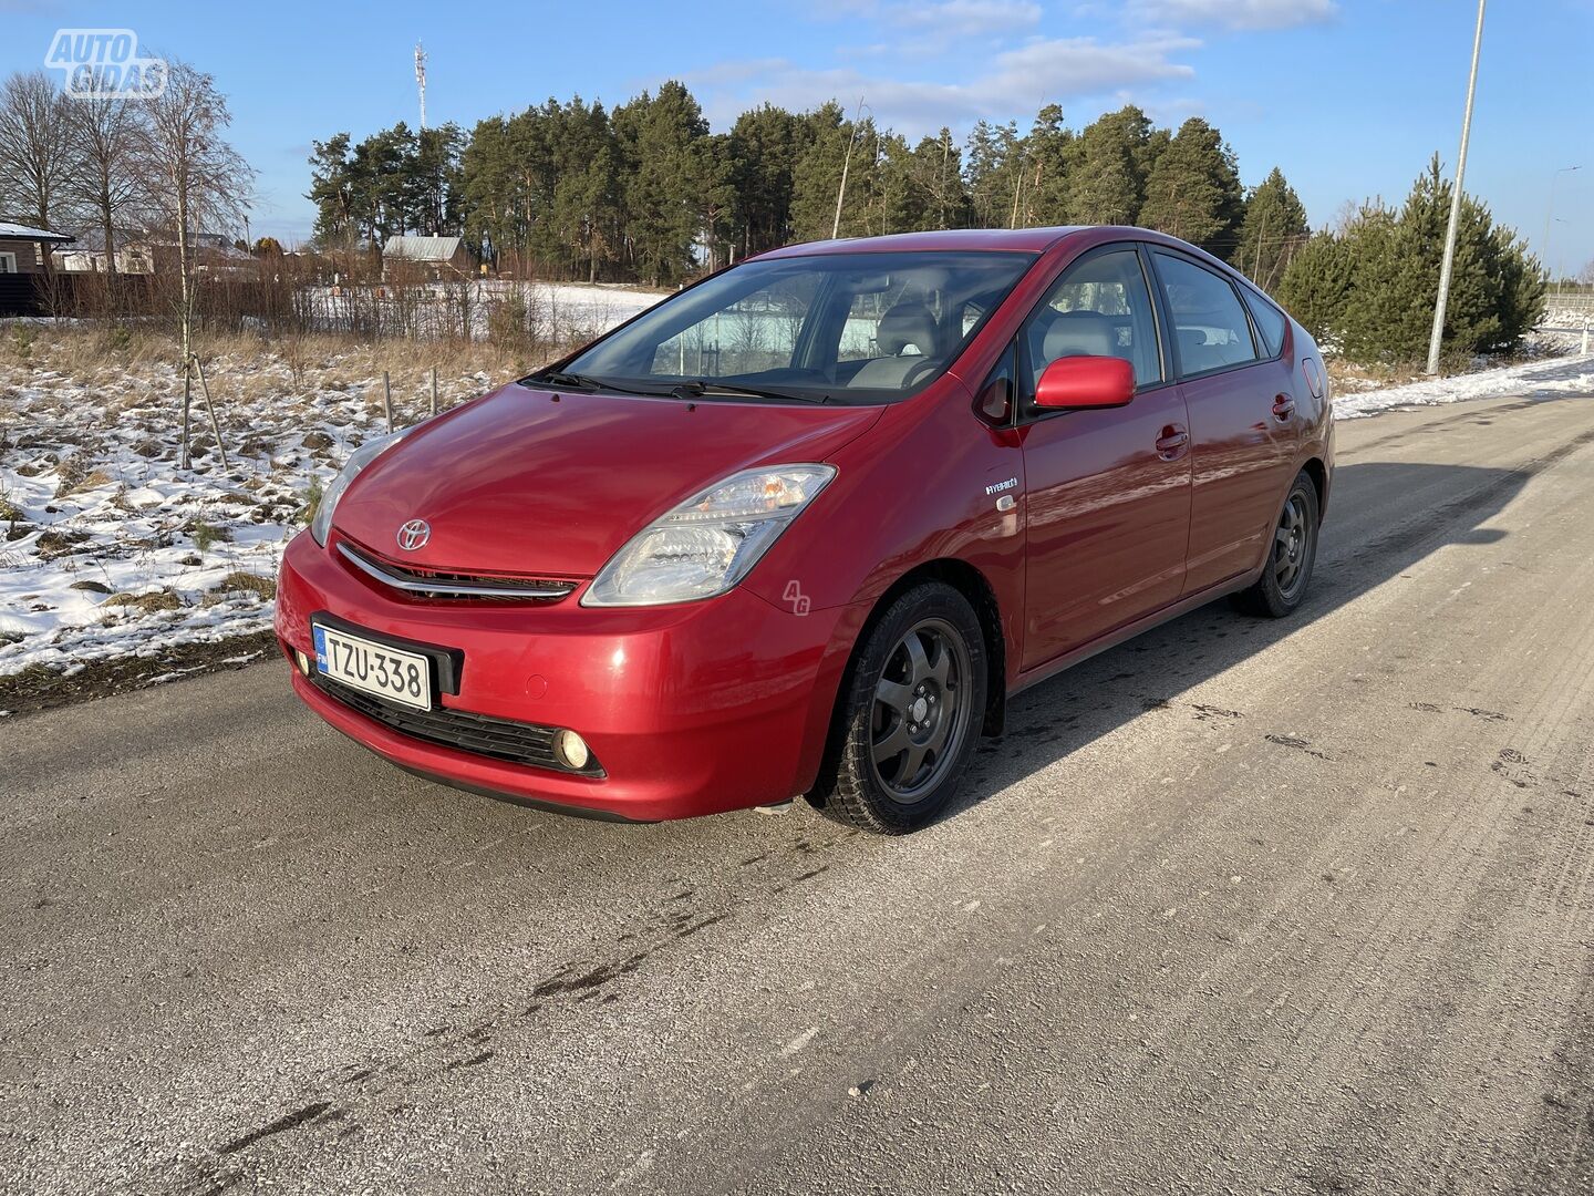
[[[1266,652],[1444,545],[1505,539],[1508,533],[1484,525],[1533,474],[1591,439],[1578,437],[1519,469],[1339,466],[1310,590],[1291,617],[1258,619],[1219,600],[1025,690],[1007,706],[1004,734],[982,742],[947,816],[956,818],[1146,711],[1175,705],[1180,694]]]

